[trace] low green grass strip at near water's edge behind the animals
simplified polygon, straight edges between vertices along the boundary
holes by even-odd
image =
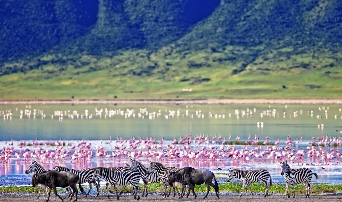
[[[139,184],[142,189],[142,184]],[[265,187],[262,184],[252,184],[252,190],[254,193],[264,193]],[[223,183],[219,185],[220,193],[240,193],[241,192],[241,183]],[[88,189],[87,186],[84,188]],[[111,188],[111,190],[114,190]],[[121,188],[119,188],[119,191]],[[335,193],[336,191],[342,190],[342,185],[328,185],[328,184],[312,184],[311,185],[311,194],[321,194],[321,193]],[[38,193],[39,187],[19,187],[19,186],[6,186],[0,187],[0,193]],[[101,188],[101,191],[104,192],[104,188]],[[125,192],[132,192],[132,187],[129,186],[125,189]],[[196,185],[195,192],[196,193],[204,193],[207,191],[206,186],[203,185]],[[305,194],[305,187],[304,185],[295,185],[294,191],[296,194]],[[64,189],[58,189],[58,192],[64,193]],[[157,192],[162,193],[163,187],[161,184],[149,184],[148,185],[148,192]],[[214,193],[214,189],[210,190],[211,193]],[[245,188],[245,192],[248,193],[248,187]],[[290,190],[291,192],[291,190]],[[274,184],[270,189],[269,193],[286,193],[285,185]]]

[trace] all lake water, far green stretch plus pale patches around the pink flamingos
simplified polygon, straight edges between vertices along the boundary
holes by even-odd
[[[30,143],[36,139],[50,141],[62,139],[73,145],[85,138],[90,140],[92,146],[101,145],[100,139],[103,139],[104,150],[111,152],[114,143],[109,144],[109,136],[113,141],[117,139],[117,136],[122,136],[123,139],[130,139],[133,135],[144,138],[153,136],[156,142],[164,137],[166,141],[162,146],[165,147],[165,145],[171,144],[174,137],[179,140],[180,136],[184,136],[186,133],[192,133],[193,137],[205,133],[209,134],[210,139],[216,133],[221,134],[227,141],[228,137],[232,135],[232,142],[235,142],[237,136],[241,141],[245,141],[249,134],[252,135],[252,139],[254,134],[257,134],[260,142],[263,142],[266,136],[270,137],[269,142],[275,142],[279,138],[281,141],[278,146],[281,147],[286,146],[285,141],[288,135],[294,142],[296,138],[303,137],[303,142],[292,147],[297,150],[305,150],[314,136],[316,141],[317,137],[326,134],[329,135],[329,138],[330,136],[340,136],[336,130],[342,130],[341,107],[341,105],[321,104],[1,105],[0,146],[7,146],[11,139],[13,139],[14,149],[19,150],[18,142],[22,140],[27,140],[27,143]],[[23,111],[22,115],[21,111]],[[211,146],[219,147],[220,145],[210,143],[206,147]],[[243,145],[232,146],[241,149],[243,147]],[[192,145],[191,147],[199,150],[202,145]],[[253,148],[253,146],[250,145],[249,148]],[[50,150],[54,149],[55,147],[50,148]],[[330,150],[330,148],[328,149]],[[336,149],[341,150],[341,147]],[[148,166],[150,159],[139,160]],[[65,161],[63,163],[45,162],[42,165],[45,169],[52,169],[58,164],[69,168],[83,169],[96,166],[120,167],[124,166],[125,162],[129,162],[129,158],[117,160],[94,156],[91,160],[77,164]],[[31,175],[24,174],[29,164],[30,162],[20,162],[15,158],[6,163],[0,163],[0,186],[29,185]],[[255,159],[232,161],[231,158],[226,158],[200,162],[168,160],[163,161],[163,164],[176,167],[206,168],[214,173],[216,173],[216,168],[222,168],[222,171],[218,173],[219,183],[225,182],[224,173],[228,168],[243,170],[264,168],[269,170],[275,183],[284,183],[284,177],[280,176],[278,161],[260,162]],[[313,179],[313,183],[342,183],[340,174],[342,168],[336,161],[330,165],[324,165],[324,170],[321,169],[322,166],[298,163],[291,164],[291,166],[293,168],[307,167],[318,173],[321,178],[319,181]]]

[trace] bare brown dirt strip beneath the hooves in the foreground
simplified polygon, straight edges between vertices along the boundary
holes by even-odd
[[[40,199],[37,199],[36,195],[30,194],[30,196],[23,195],[23,194],[0,194],[0,201],[6,201],[6,202],[27,202],[27,201],[45,201],[47,199],[47,196],[44,194],[40,197]],[[319,202],[333,202],[333,201],[341,201],[342,194],[325,194],[325,195],[312,195],[310,199],[305,199],[305,195],[296,195],[295,199],[288,199],[286,195],[271,195],[268,198],[263,198],[261,195],[254,195],[254,198],[252,199],[251,195],[242,196],[239,198],[238,196],[227,196],[225,194],[220,194],[220,199],[218,199],[216,196],[210,195],[207,199],[203,199],[203,196],[197,195],[197,199],[195,199],[192,195],[189,196],[189,198],[166,198],[163,199],[161,195],[149,195],[147,198],[141,198],[140,201],[151,201],[151,202],[161,202],[161,201],[206,201],[206,202],[278,202],[280,200],[286,200],[286,201],[298,201],[302,202],[304,201],[319,201]],[[74,200],[74,199],[73,199]],[[110,195],[110,201],[115,201],[116,196]],[[55,195],[50,196],[51,202],[58,202],[61,201],[58,199]],[[65,201],[69,201],[68,199],[65,199]],[[79,196],[77,201],[90,201],[90,202],[97,202],[97,201],[107,201],[106,196],[88,196],[83,197]],[[120,197],[119,201],[123,202],[131,202],[134,201],[132,195],[123,195]]]

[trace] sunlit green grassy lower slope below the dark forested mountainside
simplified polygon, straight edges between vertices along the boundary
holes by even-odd
[[[339,54],[282,58],[289,53],[281,49],[259,56],[242,71],[248,51],[239,47],[189,52],[183,58],[165,52],[82,55],[69,64],[43,56],[39,69],[0,76],[0,99],[342,97]],[[227,60],[233,52],[242,58]]]

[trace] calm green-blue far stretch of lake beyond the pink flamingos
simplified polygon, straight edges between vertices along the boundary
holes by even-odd
[[[246,140],[249,133],[257,134],[260,139],[266,136],[270,140],[277,138],[312,139],[313,136],[339,135],[336,130],[342,130],[342,112],[340,105],[268,105],[268,104],[229,104],[229,105],[1,105],[0,110],[12,111],[11,119],[0,120],[0,140],[99,140],[117,136],[130,138],[136,136],[154,136],[160,140],[163,136],[166,140],[179,139],[185,133],[196,135],[199,133],[221,134],[228,138],[232,135]],[[96,115],[97,110],[103,110],[102,116]],[[142,116],[138,114],[142,111]],[[45,118],[34,109],[43,110]],[[123,113],[105,117],[105,109],[123,111]],[[255,110],[254,110],[255,109]],[[320,110],[319,110],[320,109]],[[20,110],[30,110],[30,117],[23,115],[20,118]],[[85,117],[85,111],[92,115]],[[130,110],[133,115],[126,116]],[[133,111],[132,111],[133,110]],[[186,111],[188,110],[188,113]],[[248,113],[247,110],[251,113]],[[272,112],[275,110],[275,114]],[[62,111],[63,120],[58,120],[55,111]],[[79,118],[68,118],[68,115],[77,111]],[[179,116],[177,117],[177,111]],[[267,113],[269,111],[269,113]],[[171,113],[170,113],[171,112]],[[239,113],[239,116],[236,115]],[[312,113],[311,113],[312,112]],[[159,117],[149,119],[149,113],[160,113]],[[174,113],[174,116],[169,116]],[[212,117],[209,116],[212,114]],[[261,113],[263,116],[261,116]],[[285,113],[285,116],[284,116]],[[296,114],[294,114],[296,113]],[[147,115],[146,115],[147,114]],[[200,116],[198,116],[200,114]],[[231,117],[229,117],[229,114]],[[51,116],[54,116],[53,119]],[[81,118],[83,115],[83,118]],[[203,115],[203,118],[202,118]],[[215,115],[218,118],[215,118]],[[224,118],[222,116],[224,115]],[[326,117],[327,115],[327,117]],[[3,113],[1,116],[4,116]],[[144,116],[144,118],[143,118]],[[168,118],[165,118],[168,116]],[[221,118],[219,118],[219,116]],[[335,118],[336,116],[336,118]],[[258,127],[257,122],[263,122],[263,127]],[[323,124],[324,127],[318,128]]]

